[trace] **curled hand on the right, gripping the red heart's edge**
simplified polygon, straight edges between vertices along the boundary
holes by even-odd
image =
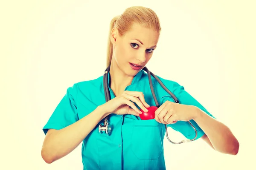
[[[155,120],[163,124],[174,124],[177,121],[195,119],[197,111],[193,105],[183,105],[166,101],[155,111]]]

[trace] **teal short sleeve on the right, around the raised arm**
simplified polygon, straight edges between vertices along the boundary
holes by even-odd
[[[215,118],[193,96],[191,96],[187,91],[185,91],[183,86],[179,85],[177,82],[173,82],[171,89],[169,89],[169,90],[177,97],[180,104],[194,105],[194,106],[200,108],[205,113],[207,113],[209,116]],[[175,102],[174,99],[172,99],[172,96],[165,95],[160,98],[160,105],[162,105],[167,100],[169,100],[171,102]],[[189,122],[191,122],[191,124],[195,127],[195,129],[198,133],[196,139],[201,138],[201,136],[203,136],[205,134],[204,131],[197,125],[197,123],[194,120],[190,120]],[[167,127],[172,127],[172,129],[180,132],[187,139],[194,139],[196,133],[195,133],[194,128],[189,124],[189,122],[178,121],[175,124],[167,125]]]

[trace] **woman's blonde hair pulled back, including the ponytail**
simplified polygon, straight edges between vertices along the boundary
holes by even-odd
[[[146,28],[154,29],[160,32],[161,26],[157,14],[150,8],[143,6],[132,6],[126,8],[125,11],[116,17],[113,17],[110,23],[107,48],[107,67],[111,64],[113,55],[113,44],[111,42],[111,32],[113,28],[117,28],[119,36],[123,36],[126,31],[131,29],[134,24],[140,24]]]

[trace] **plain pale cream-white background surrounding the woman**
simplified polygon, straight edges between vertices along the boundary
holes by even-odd
[[[166,168],[253,169],[255,153],[255,5],[253,1],[1,2],[0,169],[81,170],[81,145],[46,164],[42,127],[68,87],[105,70],[110,20],[130,6],[160,17],[162,33],[147,65],[185,87],[240,142],[236,156],[201,140],[165,139]],[[89,60],[91,60],[89,62]],[[169,130],[172,140],[183,139]]]

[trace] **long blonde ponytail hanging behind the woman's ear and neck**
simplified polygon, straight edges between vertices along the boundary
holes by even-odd
[[[107,48],[107,67],[110,65],[113,55],[113,44],[111,42],[111,31],[115,26],[116,20],[119,18],[119,16],[113,17],[113,19],[110,22],[110,28],[108,33],[108,48]]]

